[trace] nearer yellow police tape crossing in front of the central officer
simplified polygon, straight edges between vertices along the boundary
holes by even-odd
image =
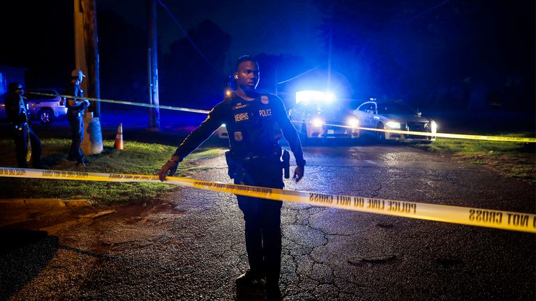
[[[106,182],[160,182],[158,176],[148,175],[55,171],[46,169],[16,169],[6,167],[0,167],[0,176],[11,178],[91,180]],[[275,188],[225,184],[171,176],[166,178],[165,183],[195,187],[202,190],[253,196],[275,201],[291,201],[313,206],[354,210],[365,213],[378,213],[381,215],[427,219],[436,222],[536,233],[536,215],[530,213],[415,203],[410,201],[394,201],[388,199],[372,199],[363,196],[280,190]]]

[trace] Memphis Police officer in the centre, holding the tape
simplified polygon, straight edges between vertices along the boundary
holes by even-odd
[[[172,175],[179,162],[197,148],[223,123],[229,133],[230,151],[226,153],[229,176],[235,184],[282,189],[281,146],[284,135],[294,154],[297,167],[294,179],[304,176],[305,160],[297,131],[290,123],[283,102],[276,95],[256,90],[259,66],[251,56],[241,56],[234,80],[237,90],[214,107],[203,123],[182,141],[158,176]],[[262,283],[269,300],[279,300],[281,271],[281,201],[237,196],[244,213],[246,251],[250,270],[237,278],[237,285]]]

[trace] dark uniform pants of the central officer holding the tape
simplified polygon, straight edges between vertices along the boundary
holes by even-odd
[[[235,184],[282,189],[280,164],[259,163],[246,167]],[[266,276],[267,282],[279,281],[281,271],[281,201],[237,196],[246,222],[246,251],[251,272]]]

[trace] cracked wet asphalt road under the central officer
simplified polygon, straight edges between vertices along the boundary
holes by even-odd
[[[210,141],[208,141],[210,142]],[[223,153],[223,150],[222,150]],[[287,189],[535,213],[535,184],[389,144],[306,146]],[[201,180],[230,183],[223,155]],[[144,206],[1,208],[1,300],[262,300],[231,194]],[[535,300],[535,235],[284,203],[284,300]]]

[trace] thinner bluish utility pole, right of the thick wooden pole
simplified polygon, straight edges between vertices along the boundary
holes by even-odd
[[[149,108],[148,130],[160,130],[160,109],[158,109],[158,48],[156,40],[156,0],[146,0],[147,31],[149,32],[147,47],[147,64],[149,71],[149,104],[157,107]]]

